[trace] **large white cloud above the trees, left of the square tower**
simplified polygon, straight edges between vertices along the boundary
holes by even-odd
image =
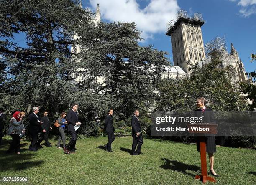
[[[142,38],[153,38],[154,33],[166,32],[167,23],[176,18],[180,9],[177,0],[150,0],[140,8],[140,0],[90,0],[93,8],[100,5],[101,17],[110,21],[134,22],[142,31]],[[144,2],[145,3],[145,2]]]

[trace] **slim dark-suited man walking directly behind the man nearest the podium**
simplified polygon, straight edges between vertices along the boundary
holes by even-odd
[[[114,134],[114,127],[113,127],[113,109],[108,110],[108,115],[105,117],[105,125],[104,130],[108,134],[108,143],[104,145],[105,149],[108,150],[108,152],[113,152],[111,150],[111,144],[115,140],[115,134]]]

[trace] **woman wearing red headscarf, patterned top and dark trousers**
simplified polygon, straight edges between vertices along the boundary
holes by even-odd
[[[20,154],[20,134],[22,132],[25,132],[25,127],[20,116],[20,112],[16,111],[10,120],[8,129],[8,134],[13,138],[13,141],[11,142],[7,153],[11,153],[15,150],[17,154]]]

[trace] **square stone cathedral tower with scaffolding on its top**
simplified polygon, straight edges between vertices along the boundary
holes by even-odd
[[[189,72],[187,61],[192,64],[205,60],[201,26],[205,23],[202,14],[194,13],[189,17],[187,11],[179,10],[175,23],[169,23],[166,35],[171,36],[174,65]]]

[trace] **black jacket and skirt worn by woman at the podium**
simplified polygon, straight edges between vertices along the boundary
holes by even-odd
[[[195,117],[202,117],[204,123],[212,123],[215,124],[215,118],[212,109],[206,108],[203,112],[201,109],[195,110]],[[216,142],[214,134],[207,134],[205,136],[206,141],[206,152],[207,153],[215,153],[216,152]],[[199,137],[197,137],[197,151],[200,152],[200,142]]]

